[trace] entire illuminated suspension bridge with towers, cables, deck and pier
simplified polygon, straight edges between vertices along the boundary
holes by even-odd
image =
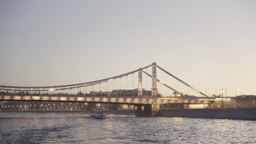
[[[147,73],[149,67],[152,67],[152,75]],[[177,91],[176,89],[168,86],[166,83],[156,79],[156,68],[164,71],[167,75],[173,77],[179,82],[183,83],[185,86],[193,89],[194,91],[200,93],[205,98],[186,98],[184,95]],[[138,88],[134,89],[134,74],[138,73]],[[143,91],[142,85],[142,73],[146,74],[152,79],[152,91],[151,94],[147,94]],[[131,83],[132,90],[128,89],[128,76],[131,75]],[[121,80],[123,78],[123,83]],[[126,78],[126,79],[125,79]],[[113,81],[119,80],[120,89],[114,90],[115,86],[113,86],[113,91],[108,92],[109,83]],[[169,98],[169,97],[161,97],[158,94],[157,82],[161,83],[161,85],[166,86],[172,91],[179,94],[179,97]],[[102,85],[105,83],[106,92],[102,92]],[[123,88],[121,86],[123,84]],[[98,85],[99,92],[95,92],[94,88]],[[118,87],[119,87],[118,86]],[[190,86],[187,82],[182,81],[178,77],[172,75],[165,69],[156,65],[156,63],[152,63],[147,67],[139,68],[137,70],[130,71],[129,73],[121,74],[118,76],[108,77],[107,79],[77,83],[72,85],[62,85],[62,86],[42,86],[42,87],[22,87],[22,86],[0,86],[2,88],[2,92],[0,93],[1,101],[67,101],[67,102],[83,102],[83,103],[107,103],[107,104],[132,104],[135,105],[136,116],[155,116],[161,104],[211,104],[214,99],[210,99],[206,94],[198,91],[196,88]],[[92,91],[86,93],[86,89],[88,87],[92,88]],[[72,94],[72,89],[80,89],[84,88],[84,93],[81,91],[77,94]],[[70,91],[70,93],[68,93]],[[88,91],[88,90],[87,90]]]

